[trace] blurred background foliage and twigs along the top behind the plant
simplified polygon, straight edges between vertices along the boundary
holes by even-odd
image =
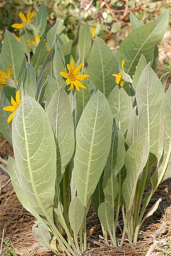
[[[48,13],[48,26],[53,26],[59,17],[64,23],[64,33],[69,39],[78,34],[80,25],[89,22],[90,28],[96,27],[96,35],[105,40],[110,49],[119,48],[121,41],[129,34],[130,11],[142,23],[148,23],[161,13],[169,10],[171,14],[171,0],[44,0]],[[5,29],[13,32],[11,24],[20,23],[19,12],[25,15],[28,11],[38,12],[41,0],[0,0],[0,48]],[[169,20],[169,25],[171,19]],[[170,26],[169,26],[170,27]],[[168,28],[170,35],[170,29]],[[17,35],[17,32],[15,32]],[[170,43],[167,42],[168,45]],[[165,64],[169,64],[170,55],[163,57]],[[168,67],[163,67],[167,72]],[[169,67],[170,69],[170,67]]]

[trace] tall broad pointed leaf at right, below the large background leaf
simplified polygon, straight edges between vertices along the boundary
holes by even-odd
[[[148,134],[151,153],[149,163],[153,163],[157,157],[159,115],[164,95],[162,84],[149,63],[143,70],[136,87],[138,137]]]

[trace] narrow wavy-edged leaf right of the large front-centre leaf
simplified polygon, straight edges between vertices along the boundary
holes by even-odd
[[[110,203],[114,209],[114,200],[119,192],[117,174],[124,165],[125,137],[116,127],[112,134],[112,143],[107,163],[104,167],[103,191],[105,201]]]

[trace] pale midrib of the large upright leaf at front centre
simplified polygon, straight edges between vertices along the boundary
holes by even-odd
[[[93,151],[93,142],[94,142],[94,134],[95,134],[95,128],[96,128],[98,105],[99,105],[99,99],[97,101],[96,118],[95,118],[95,123],[93,128],[93,136],[92,136],[91,147],[90,147],[90,156],[89,156],[88,167],[87,167],[87,179],[86,179],[86,186],[85,186],[85,193],[84,193],[84,207],[87,206],[88,182],[89,182],[89,176],[90,176],[91,157],[92,157],[92,151]]]

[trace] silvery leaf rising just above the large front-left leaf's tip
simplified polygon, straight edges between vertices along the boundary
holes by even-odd
[[[31,64],[27,63],[26,76],[23,84],[24,92],[32,96],[32,98],[35,98],[36,88],[37,83],[35,69]]]

